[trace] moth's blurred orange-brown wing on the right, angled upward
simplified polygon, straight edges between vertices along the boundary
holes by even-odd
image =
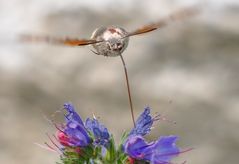
[[[170,14],[168,17],[159,20],[158,22],[148,24],[148,25],[143,26],[135,31],[130,32],[127,35],[127,37],[154,31],[158,28],[168,25],[170,22],[186,19],[186,18],[194,16],[198,13],[199,13],[199,8],[196,8],[196,7],[181,9],[177,12]]]

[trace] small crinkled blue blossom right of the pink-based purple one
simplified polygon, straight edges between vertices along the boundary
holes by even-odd
[[[88,118],[85,122],[85,126],[94,135],[94,143],[96,145],[107,146],[110,135],[108,129],[104,125],[100,124],[95,118]]]

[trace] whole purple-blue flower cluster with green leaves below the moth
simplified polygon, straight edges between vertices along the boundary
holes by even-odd
[[[108,129],[96,118],[83,122],[72,104],[64,104],[64,109],[65,123],[56,125],[58,144],[53,143],[60,150],[63,164],[172,164],[172,158],[189,150],[180,150],[176,146],[178,137],[173,135],[161,136],[153,142],[145,140],[153,123],[160,120],[160,115],[150,115],[149,107],[139,116],[135,127],[123,134],[118,147]]]

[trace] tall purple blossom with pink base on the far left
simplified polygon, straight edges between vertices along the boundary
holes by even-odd
[[[64,109],[68,112],[65,115],[66,125],[59,129],[57,137],[63,146],[84,147],[91,143],[91,138],[85,128],[80,116],[75,112],[73,105],[64,104]]]

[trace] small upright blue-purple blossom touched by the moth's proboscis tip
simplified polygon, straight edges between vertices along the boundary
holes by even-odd
[[[144,109],[144,112],[141,113],[139,118],[136,121],[136,126],[133,128],[129,135],[141,135],[144,136],[148,134],[151,130],[151,127],[153,125],[153,122],[158,120],[159,115],[152,118],[150,115],[150,108],[146,107]]]

